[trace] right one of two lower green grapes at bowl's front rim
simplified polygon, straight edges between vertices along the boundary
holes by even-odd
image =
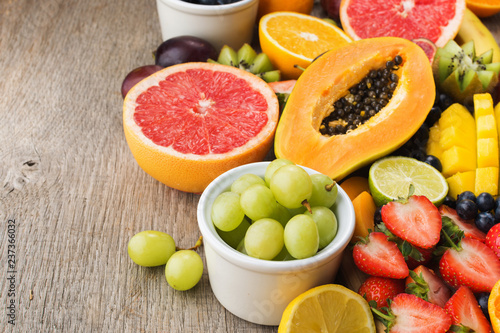
[[[318,252],[318,227],[311,216],[295,215],[285,227],[285,246],[296,259],[312,257]]]

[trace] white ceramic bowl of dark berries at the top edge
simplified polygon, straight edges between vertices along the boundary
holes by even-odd
[[[227,5],[156,0],[164,41],[191,35],[207,40],[217,50],[224,44],[237,50],[252,41],[258,4],[258,0],[240,0]]]

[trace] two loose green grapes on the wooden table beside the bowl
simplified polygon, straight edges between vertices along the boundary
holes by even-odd
[[[203,275],[203,261],[194,250],[177,250],[174,239],[161,231],[145,230],[128,242],[128,255],[137,265],[165,265],[165,278],[176,290],[193,288]]]

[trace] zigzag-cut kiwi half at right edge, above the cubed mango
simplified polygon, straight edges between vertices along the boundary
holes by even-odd
[[[472,104],[474,94],[492,93],[498,83],[500,63],[492,60],[493,50],[477,55],[474,41],[459,46],[450,40],[432,63],[436,85],[455,102]]]

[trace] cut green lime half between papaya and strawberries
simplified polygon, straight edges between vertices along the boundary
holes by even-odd
[[[406,198],[410,185],[414,195],[424,195],[435,205],[448,194],[448,183],[438,170],[410,157],[391,156],[376,161],[368,172],[368,183],[377,206]]]

